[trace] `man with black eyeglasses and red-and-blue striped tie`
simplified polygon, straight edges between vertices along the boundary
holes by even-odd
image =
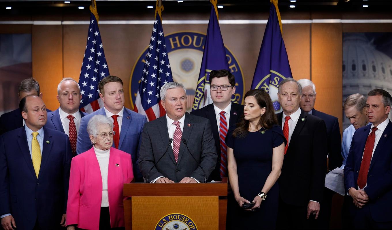
[[[210,94],[214,103],[191,114],[210,120],[215,139],[218,159],[216,167],[207,181],[221,181],[227,177],[227,146],[225,138],[230,129],[236,128],[238,119],[243,116],[243,105],[232,102],[236,92],[235,78],[228,70],[212,70],[210,73]]]

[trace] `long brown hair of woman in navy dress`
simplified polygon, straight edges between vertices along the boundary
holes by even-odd
[[[262,117],[260,117],[260,120],[256,127],[261,126],[265,129],[270,129],[274,124],[278,124],[278,119],[276,119],[274,106],[272,105],[272,101],[268,93],[266,93],[264,90],[249,90],[247,93],[245,93],[244,98],[249,96],[253,96],[256,99],[257,104],[260,106],[260,108],[265,107],[265,113]],[[237,123],[237,128],[233,131],[233,137],[246,137],[246,135],[248,134],[248,128],[249,120],[245,120],[244,118],[242,118],[240,122]]]

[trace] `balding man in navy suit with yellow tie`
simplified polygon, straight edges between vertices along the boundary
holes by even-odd
[[[71,145],[44,128],[44,101],[28,95],[19,108],[25,125],[0,136],[0,217],[5,230],[65,226]]]

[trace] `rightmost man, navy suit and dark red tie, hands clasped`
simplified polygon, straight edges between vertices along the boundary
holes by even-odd
[[[356,229],[392,228],[391,95],[381,89],[368,93],[369,122],[355,131],[344,168],[345,189]]]

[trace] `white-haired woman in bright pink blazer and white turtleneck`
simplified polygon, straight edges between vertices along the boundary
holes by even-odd
[[[133,177],[131,155],[115,149],[113,121],[96,115],[87,124],[93,147],[72,159],[68,230],[123,229],[123,184]]]

